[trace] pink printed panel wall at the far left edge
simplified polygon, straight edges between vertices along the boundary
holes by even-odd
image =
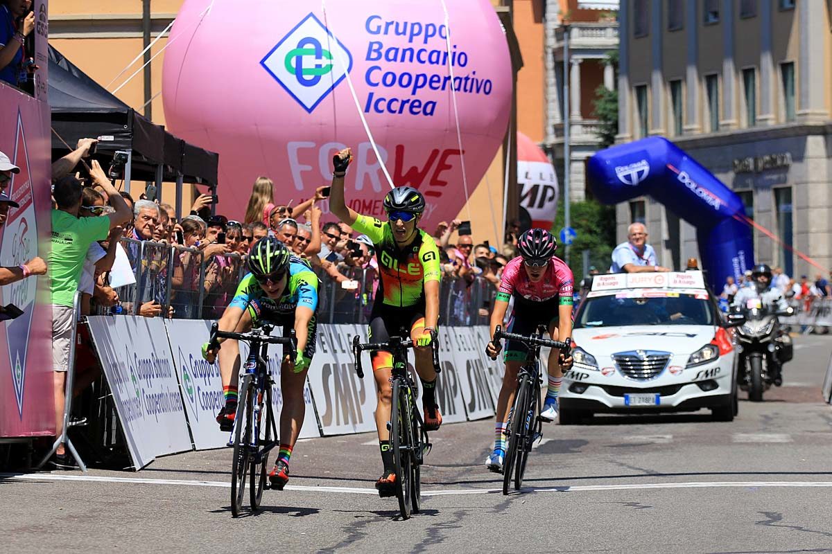
[[[35,3],[36,10],[45,11],[45,2]],[[45,33],[37,28],[39,34]],[[45,74],[42,79],[45,83]],[[0,151],[20,168],[6,186],[6,194],[19,207],[10,207],[0,224],[3,267],[15,267],[37,256],[46,258],[49,251],[49,117],[46,102],[0,84]],[[49,295],[47,277],[28,277],[0,287],[0,305],[13,304],[23,311],[17,319],[0,322],[0,437],[55,433]]]

